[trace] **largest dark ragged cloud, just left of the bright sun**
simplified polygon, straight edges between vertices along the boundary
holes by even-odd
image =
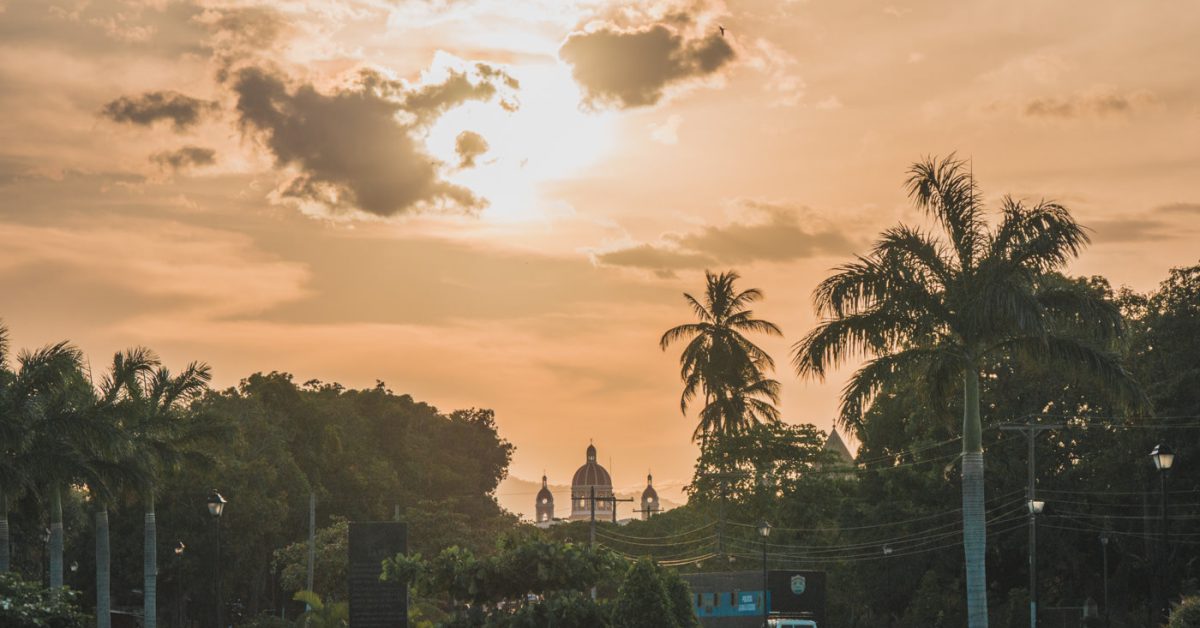
[[[476,67],[472,78],[484,83],[504,76]],[[444,83],[400,92],[397,82],[366,72],[356,84],[323,94],[311,84],[292,88],[280,74],[247,67],[235,74],[233,90],[242,128],[260,137],[280,166],[301,171],[286,187],[287,196],[390,216],[484,205],[469,190],[443,180],[439,163],[413,137],[416,125],[446,108],[496,95],[494,85],[461,88],[466,78],[452,72]]]

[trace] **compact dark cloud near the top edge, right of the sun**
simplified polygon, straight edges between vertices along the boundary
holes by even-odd
[[[590,103],[642,107],[656,103],[670,84],[716,72],[733,59],[733,48],[719,34],[689,40],[655,24],[576,32],[558,54],[571,65]]]

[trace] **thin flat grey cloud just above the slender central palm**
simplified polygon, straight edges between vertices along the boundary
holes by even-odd
[[[853,243],[842,233],[826,226],[804,225],[794,208],[752,201],[744,202],[743,208],[750,221],[668,233],[658,243],[606,251],[598,253],[595,259],[601,264],[671,276],[677,270],[718,264],[790,262],[853,250]]]

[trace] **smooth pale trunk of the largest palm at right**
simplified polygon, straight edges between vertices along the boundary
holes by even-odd
[[[983,424],[979,371],[962,373],[962,548],[967,570],[967,627],[988,628],[988,522],[984,518]]]

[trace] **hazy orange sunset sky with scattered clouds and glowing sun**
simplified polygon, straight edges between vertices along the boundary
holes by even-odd
[[[511,473],[688,482],[684,292],[736,270],[786,420],[811,292],[923,225],[917,160],[1092,229],[1152,289],[1200,243],[1200,5],[1166,0],[0,0],[0,318],[444,411]],[[532,496],[530,496],[532,501]]]

